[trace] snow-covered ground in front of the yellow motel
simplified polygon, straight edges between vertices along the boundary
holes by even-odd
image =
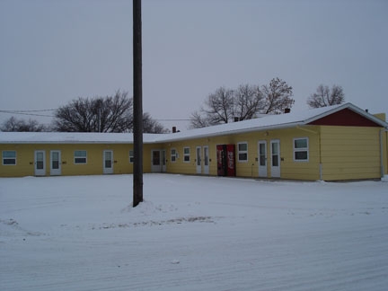
[[[387,290],[388,183],[0,179],[0,290]]]

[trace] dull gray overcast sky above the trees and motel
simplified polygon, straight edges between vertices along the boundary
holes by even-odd
[[[142,9],[143,108],[154,119],[189,119],[220,86],[274,77],[293,86],[292,110],[307,109],[319,84],[339,84],[346,101],[388,113],[388,1],[143,0]],[[0,0],[0,41],[0,110],[132,96],[131,0]]]

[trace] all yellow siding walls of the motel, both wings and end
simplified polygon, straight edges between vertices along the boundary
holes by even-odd
[[[294,159],[294,139],[308,138],[308,161],[300,162]],[[342,127],[342,126],[304,126],[297,128],[261,130],[257,132],[235,134],[220,137],[195,138],[185,141],[166,142],[163,144],[145,144],[143,148],[144,172],[152,172],[152,151],[165,150],[165,171],[183,174],[217,175],[216,145],[235,145],[236,176],[259,177],[259,141],[267,145],[267,175],[271,172],[271,140],[280,143],[280,179],[295,180],[352,180],[378,179],[383,172],[388,174],[388,132],[376,127]],[[383,145],[381,144],[383,141]],[[247,161],[238,161],[238,144],[248,145]],[[200,146],[202,161],[203,147],[208,146],[209,167],[197,167],[196,150]],[[190,161],[184,161],[184,148],[190,148]],[[381,148],[383,147],[383,155]],[[133,164],[129,163],[129,150],[133,145],[125,144],[4,144],[0,145],[0,153],[4,150],[16,151],[16,165],[0,163],[0,177],[21,177],[34,175],[34,152],[45,151],[46,172],[50,175],[50,151],[61,152],[61,175],[102,174],[104,150],[113,151],[113,173],[132,173]],[[178,153],[172,162],[171,151]],[[75,164],[74,152],[87,151],[87,163]],[[322,172],[320,165],[322,164]]]

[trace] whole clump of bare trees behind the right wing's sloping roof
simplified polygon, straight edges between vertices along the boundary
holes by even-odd
[[[292,87],[275,78],[268,85],[242,84],[236,90],[220,87],[205,101],[205,108],[191,113],[191,128],[228,123],[234,118],[254,119],[259,114],[278,114],[291,108]]]

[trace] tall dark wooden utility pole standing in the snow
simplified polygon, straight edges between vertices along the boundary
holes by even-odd
[[[133,207],[143,201],[143,87],[141,0],[133,0],[134,167]]]

